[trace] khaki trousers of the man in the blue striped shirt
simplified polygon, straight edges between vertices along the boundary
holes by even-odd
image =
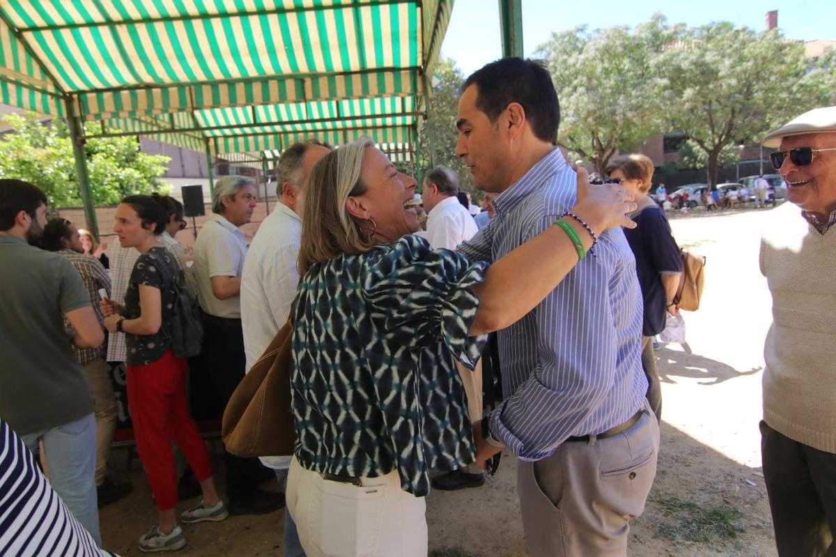
[[[520,462],[517,494],[528,554],[624,557],[628,520],[645,509],[658,454],[659,423],[647,410],[624,433],[568,441],[548,458]]]

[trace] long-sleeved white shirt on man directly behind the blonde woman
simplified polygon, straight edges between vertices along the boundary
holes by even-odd
[[[296,296],[299,273],[296,259],[302,220],[287,205],[277,203],[258,227],[244,258],[241,277],[241,324],[247,371],[287,321]],[[269,468],[290,466],[290,457],[263,457]]]

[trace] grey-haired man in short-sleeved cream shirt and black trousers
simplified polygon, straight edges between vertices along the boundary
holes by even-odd
[[[212,215],[197,235],[194,270],[203,308],[202,371],[217,402],[226,408],[246,371],[241,326],[241,275],[247,237],[241,230],[252,219],[258,201],[255,181],[247,176],[223,176],[212,192]],[[280,509],[283,497],[258,489],[257,458],[223,453],[227,468],[229,514],[264,514]]]

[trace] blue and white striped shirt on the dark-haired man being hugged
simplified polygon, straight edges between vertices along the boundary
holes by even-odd
[[[553,149],[497,195],[496,218],[457,249],[471,261],[497,261],[553,225],[576,193],[574,171]],[[620,229],[604,232],[595,251],[498,333],[505,400],[491,430],[523,460],[548,457],[570,436],[624,423],[645,399],[633,252]]]

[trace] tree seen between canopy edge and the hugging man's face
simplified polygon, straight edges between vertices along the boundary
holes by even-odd
[[[474,201],[482,199],[482,194],[473,188],[470,170],[456,156],[456,116],[459,112],[459,96],[465,78],[455,63],[449,58],[441,58],[436,64],[435,84],[430,100],[430,118],[426,119],[419,139],[421,157],[421,175],[431,170],[431,160],[436,166],[446,166],[459,175],[459,186],[471,192]],[[419,184],[420,186],[420,184]]]

